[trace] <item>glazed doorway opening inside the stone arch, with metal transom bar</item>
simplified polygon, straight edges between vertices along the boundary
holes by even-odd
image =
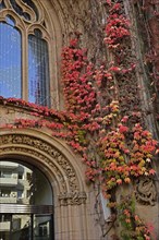
[[[0,161],[0,240],[52,240],[52,190],[46,176],[19,160]]]

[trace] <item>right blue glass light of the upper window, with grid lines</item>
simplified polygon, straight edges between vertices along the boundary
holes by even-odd
[[[36,35],[28,36],[28,100],[49,106],[49,57],[48,45]]]

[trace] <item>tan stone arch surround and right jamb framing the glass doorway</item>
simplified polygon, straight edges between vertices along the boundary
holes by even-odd
[[[53,202],[48,203],[48,206],[50,203],[53,204],[51,214],[54,218],[50,240],[89,239],[87,194],[83,169],[78,164],[80,159],[62,141],[35,129],[1,131],[0,160],[8,159],[26,167],[40,169],[47,177],[51,190],[53,190]],[[40,193],[44,193],[44,190]],[[30,207],[33,207],[32,203]],[[28,211],[27,214],[29,213]],[[40,213],[38,214],[40,215]],[[38,240],[38,238],[33,239]]]

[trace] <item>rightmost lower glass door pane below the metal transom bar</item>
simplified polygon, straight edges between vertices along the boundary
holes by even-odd
[[[51,216],[34,216],[33,240],[51,240]]]

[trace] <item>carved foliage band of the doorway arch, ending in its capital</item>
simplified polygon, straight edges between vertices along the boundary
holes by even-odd
[[[86,202],[86,193],[80,191],[76,172],[70,161],[54,146],[35,136],[5,134],[0,136],[0,154],[26,153],[47,164],[60,183],[60,205],[80,205]]]

